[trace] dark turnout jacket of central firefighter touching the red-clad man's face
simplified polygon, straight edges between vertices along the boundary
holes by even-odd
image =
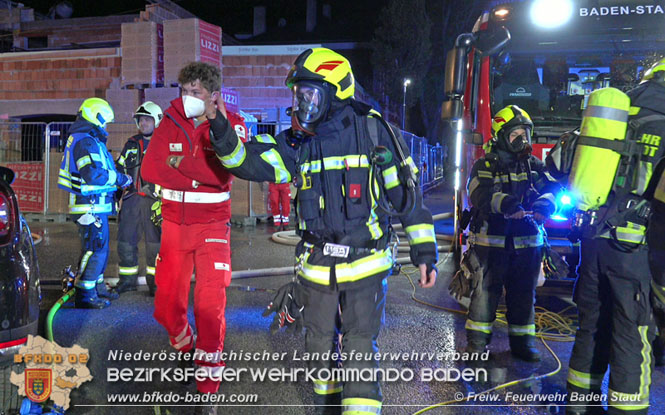
[[[342,107],[301,145],[293,144],[290,129],[277,137],[257,135],[245,144],[237,138],[226,139],[230,136],[222,139],[216,126],[221,129],[226,120],[218,115],[212,123],[215,151],[221,164],[234,175],[274,183],[295,181],[298,233],[303,237],[296,248],[297,273],[304,284],[356,287],[383,278],[392,269],[390,218],[377,210],[368,187],[372,183],[375,194],[385,194],[398,208],[406,205],[407,192],[397,174],[396,156],[381,167],[381,177],[372,175],[370,152],[374,144],[368,130],[369,110],[357,102]],[[393,130],[408,155],[399,130]],[[378,145],[396,154],[388,132],[381,126]],[[410,156],[408,162],[413,165]],[[432,215],[423,206],[420,189],[416,190],[414,209],[400,219],[409,239],[412,262],[435,264]],[[325,243],[357,249],[346,258],[334,257],[324,254]]]

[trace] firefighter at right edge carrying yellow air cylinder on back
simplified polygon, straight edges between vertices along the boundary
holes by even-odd
[[[568,369],[567,414],[605,413],[599,402],[588,397],[600,395],[608,368],[608,413],[648,412],[653,369],[651,343],[655,334],[649,296],[656,314],[665,308],[662,233],[650,238],[653,243],[649,246],[650,253],[645,236],[647,229],[650,235],[664,229],[662,213],[655,213],[649,219],[648,203],[653,200],[653,208],[658,211],[658,198],[663,198],[656,184],[663,168],[663,163],[658,163],[664,153],[661,143],[665,136],[664,70],[665,62],[660,61],[645,73],[643,82],[629,91],[627,97],[613,88],[594,91],[584,113],[569,179],[571,190],[583,195],[584,205],[580,207],[578,203],[582,251],[573,298],[578,308],[579,328]],[[623,98],[595,101],[595,95],[607,94]],[[620,134],[617,126],[622,124],[627,133],[617,137]],[[626,144],[623,148],[612,148],[608,143]],[[594,157],[584,160],[587,153],[593,155],[598,150],[614,153],[617,163],[614,166],[599,163]],[[623,155],[619,157],[617,153]],[[588,169],[576,174],[576,167],[585,164],[602,164],[600,170],[606,174],[594,176]],[[585,182],[589,185],[584,186]],[[594,194],[594,189],[603,183],[609,189],[603,195],[606,200],[601,199],[599,207],[587,205],[585,195]],[[594,195],[590,200],[598,197]]]

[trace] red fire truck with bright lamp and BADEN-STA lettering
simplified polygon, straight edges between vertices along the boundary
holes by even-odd
[[[442,119],[454,148],[454,252],[465,243],[467,175],[491,139],[492,114],[509,104],[534,122],[533,154],[545,159],[565,132],[578,128],[591,91],[628,90],[665,56],[665,0],[522,0],[492,2],[471,33],[458,36],[446,60]],[[576,249],[561,212],[546,224],[550,244]],[[571,206],[572,208],[572,206]]]

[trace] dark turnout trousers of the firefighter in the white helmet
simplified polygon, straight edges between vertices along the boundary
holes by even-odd
[[[148,288],[155,290],[155,259],[159,252],[159,240],[162,230],[151,220],[150,207],[154,199],[134,194],[122,201],[118,214],[118,274],[120,281],[131,280],[136,285],[139,275],[139,241],[144,236],[145,273]]]

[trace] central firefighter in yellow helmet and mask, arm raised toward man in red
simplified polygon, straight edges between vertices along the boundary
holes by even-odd
[[[295,181],[302,240],[296,247],[298,283],[289,294],[301,306],[292,309],[302,311],[307,351],[334,352],[341,334],[344,352],[364,354],[345,360],[344,368],[376,368],[378,361],[367,355],[378,351],[386,277],[394,260],[390,218],[379,204],[387,205],[387,198],[401,210],[423,287],[433,286],[436,279],[432,215],[422,204],[413,180],[417,169],[403,154],[407,150],[399,130],[381,124],[368,106],[353,99],[353,73],[345,57],[325,48],[308,49],[291,67],[286,85],[293,92],[291,129],[275,138],[259,135],[246,144],[218,141],[224,135],[214,132],[211,141],[222,164],[238,177]],[[402,147],[399,157],[396,142]],[[339,362],[309,363],[327,369]],[[322,379],[314,382],[314,392],[317,405],[341,404],[341,413],[381,412],[378,382]],[[340,413],[340,408],[328,411]]]

